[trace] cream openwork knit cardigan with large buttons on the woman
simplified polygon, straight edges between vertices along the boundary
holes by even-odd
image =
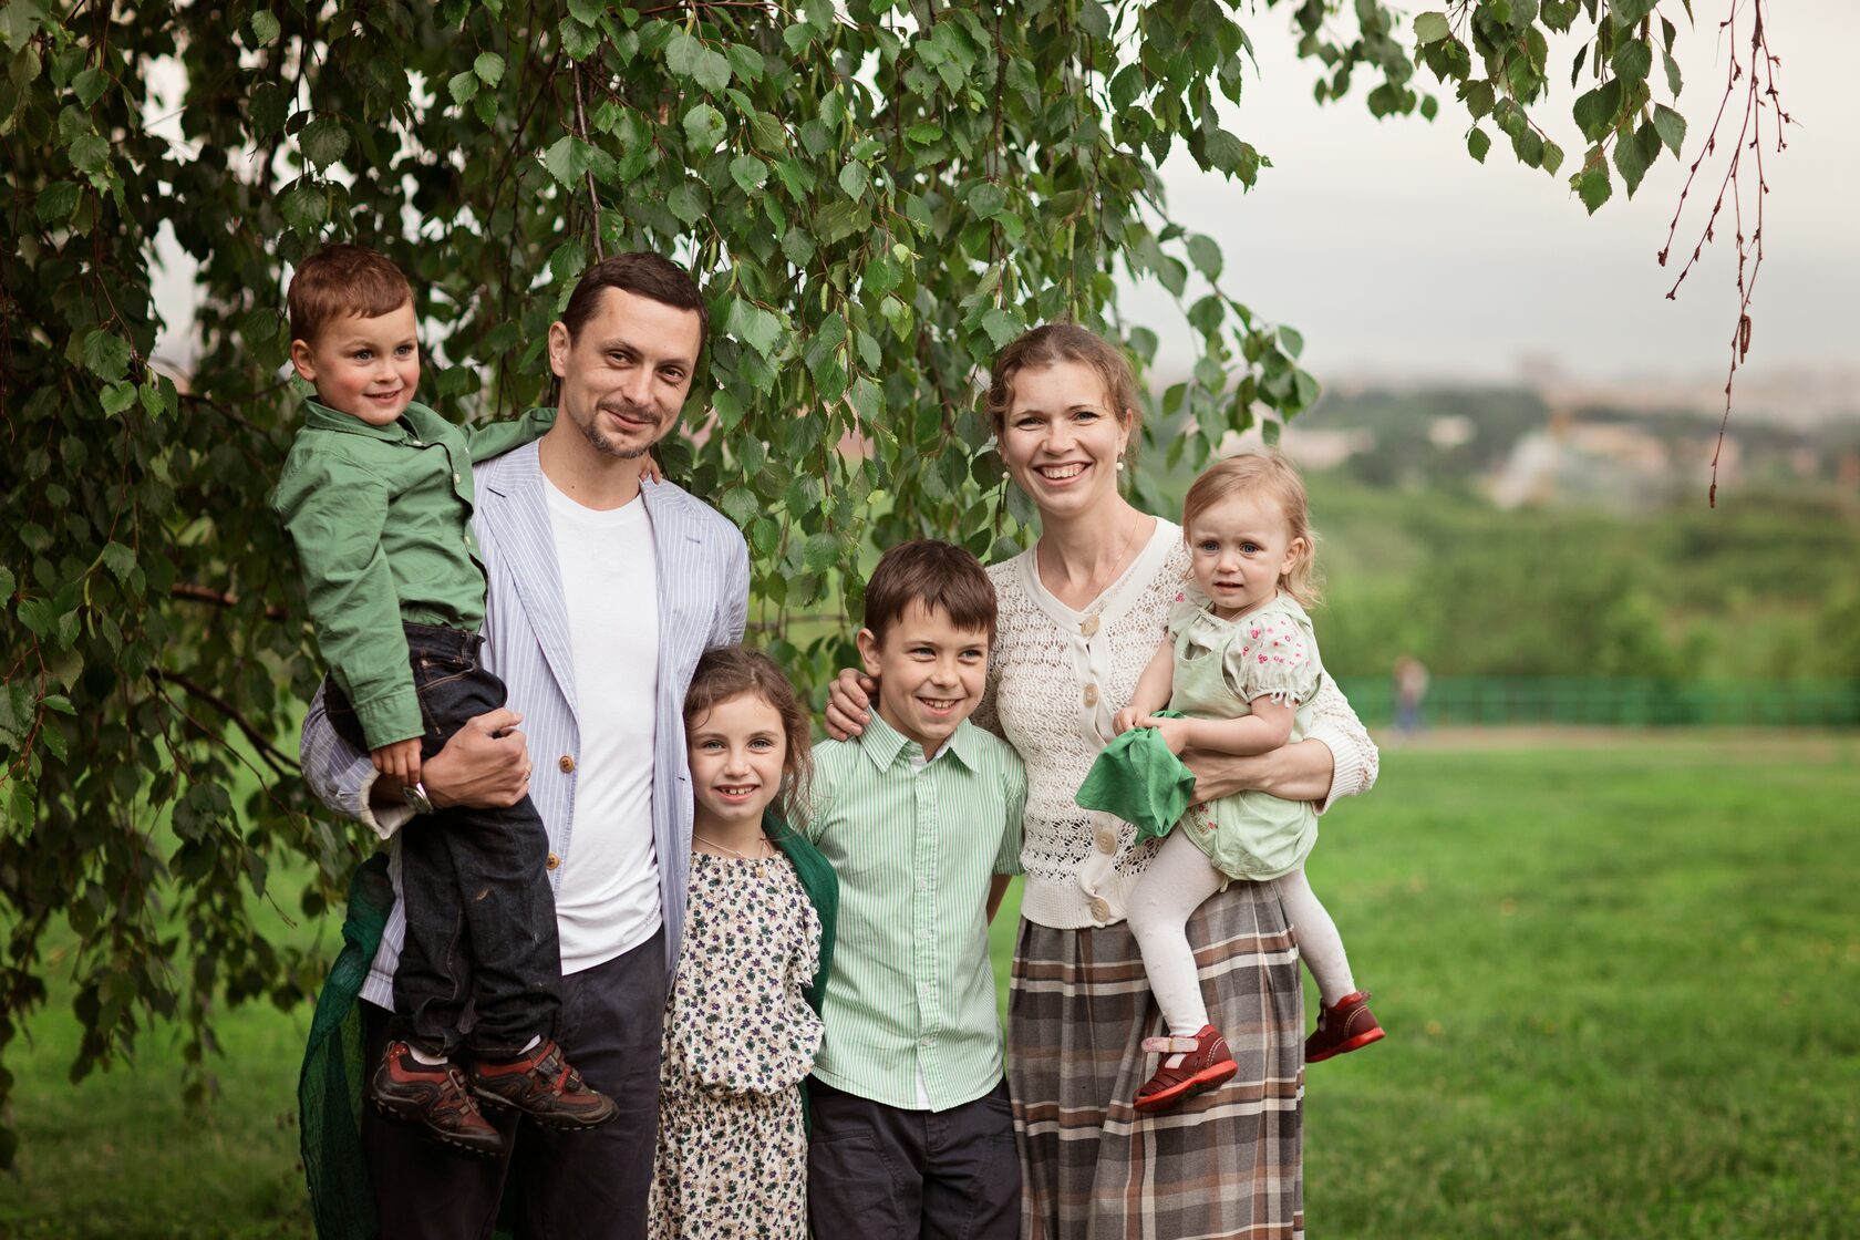
[[[1021,915],[1055,930],[1122,922],[1157,840],[1133,848],[1136,827],[1079,809],[1073,796],[1162,641],[1170,604],[1189,576],[1181,526],[1157,519],[1131,567],[1083,612],[1040,584],[1032,548],[990,567],[988,576],[1001,621],[975,721],[1006,736],[1027,760]],[[1335,759],[1319,812],[1376,781],[1375,742],[1330,677],[1311,701],[1309,740],[1324,742]]]

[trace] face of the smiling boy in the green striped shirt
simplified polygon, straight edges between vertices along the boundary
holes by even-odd
[[[859,630],[865,671],[878,677],[878,716],[934,757],[982,701],[988,630],[958,628],[943,608],[911,599],[884,640]]]

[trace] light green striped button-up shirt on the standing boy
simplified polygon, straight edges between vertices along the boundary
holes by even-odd
[[[815,745],[807,838],[839,872],[839,935],[815,1076],[874,1102],[947,1110],[1001,1080],[988,887],[1019,874],[1027,772],[963,723],[923,762],[878,714]]]

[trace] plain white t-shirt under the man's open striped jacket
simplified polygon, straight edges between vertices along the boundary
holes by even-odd
[[[631,952],[658,930],[653,729],[658,584],[645,504],[582,508],[545,480],[575,662],[575,827],[556,887],[562,972]]]

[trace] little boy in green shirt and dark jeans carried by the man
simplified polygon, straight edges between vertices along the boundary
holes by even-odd
[[[413,288],[370,249],[312,255],[288,303],[290,361],[316,400],[305,402],[272,509],[303,567],[329,664],[329,721],[415,809],[400,829],[396,1030],[368,1095],[478,1156],[506,1141],[474,1095],[558,1128],[606,1123],[614,1102],[582,1084],[552,1039],[562,959],[536,807],[433,809],[420,786],[420,759],[506,697],[478,658],[485,576],[471,530],[472,461],[536,439],[552,411],[459,428],[415,403]],[[467,1002],[476,1021],[461,1037]],[[469,1084],[452,1063],[461,1043]]]

